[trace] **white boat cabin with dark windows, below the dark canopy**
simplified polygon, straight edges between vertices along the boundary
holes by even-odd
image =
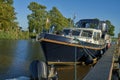
[[[91,28],[66,28],[63,30],[63,34],[68,38],[99,44],[102,32]]]

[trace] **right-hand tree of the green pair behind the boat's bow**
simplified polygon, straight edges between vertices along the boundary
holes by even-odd
[[[64,27],[68,27],[68,19],[65,18],[56,7],[53,7],[48,14],[50,16],[50,24],[55,26],[55,30],[59,31]]]

